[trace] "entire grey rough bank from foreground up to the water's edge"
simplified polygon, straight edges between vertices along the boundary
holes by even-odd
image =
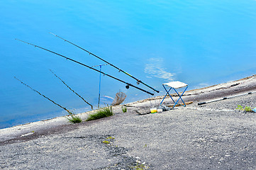
[[[129,103],[127,113],[118,106],[115,115],[89,122],[71,124],[62,117],[59,125],[61,118],[55,118],[0,130],[0,167],[255,169],[256,113],[237,109],[255,107],[255,87],[253,76],[189,91],[184,101],[194,103],[162,113],[136,112],[147,113],[159,104],[158,98]],[[237,95],[244,91],[253,93]],[[198,105],[218,96],[236,97]]]

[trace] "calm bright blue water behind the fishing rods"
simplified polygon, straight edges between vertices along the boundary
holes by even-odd
[[[98,103],[99,73],[15,38],[89,66],[105,64],[49,34],[55,33],[162,95],[161,84],[171,80],[194,89],[255,74],[255,9],[255,0],[0,1],[0,128],[67,114],[14,76],[76,113],[89,111],[52,69],[95,108]],[[103,66],[102,71],[136,83],[113,67]],[[151,97],[102,76],[101,106],[111,103],[118,91],[127,94],[126,103]]]

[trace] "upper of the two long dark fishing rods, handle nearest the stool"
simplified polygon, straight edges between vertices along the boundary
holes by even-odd
[[[50,33],[50,34],[55,35],[54,33]],[[60,39],[62,39],[62,40],[65,40],[64,38],[61,38],[61,37],[58,36],[58,35],[55,35],[55,36],[56,36],[57,38],[60,38]],[[104,62],[110,64],[112,67],[118,69],[119,72],[123,72],[124,74],[128,75],[129,77],[135,79],[135,80],[137,81],[137,84],[140,84],[140,83],[141,83],[141,84],[144,84],[145,86],[148,86],[148,87],[149,87],[150,89],[152,89],[153,91],[156,91],[157,93],[160,92],[160,91],[157,91],[156,89],[152,88],[152,86],[149,86],[148,84],[145,84],[145,83],[144,83],[143,81],[141,81],[140,79],[137,79],[137,78],[133,77],[132,75],[128,74],[128,72],[124,72],[122,69],[119,69],[118,67],[116,67],[115,65],[113,65],[113,64],[111,64],[111,63],[109,63],[109,62],[107,62],[106,60],[102,59],[101,57],[99,57],[99,56],[97,56],[97,55],[94,55],[93,53],[89,52],[88,50],[85,50],[84,48],[82,48],[82,47],[80,47],[80,46],[74,44],[73,42],[70,42],[69,40],[65,40],[65,41],[66,41],[66,42],[69,42],[70,44],[72,44],[72,45],[74,45],[74,46],[76,46],[76,47],[79,47],[80,49],[82,49],[82,50],[84,50],[84,51],[86,51],[86,52],[88,52],[89,55],[93,55],[94,57],[97,57],[99,60],[102,60],[102,61],[104,61]]]

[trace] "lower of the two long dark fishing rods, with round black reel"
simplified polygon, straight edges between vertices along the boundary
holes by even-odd
[[[18,40],[18,39],[15,39],[15,40]],[[101,72],[101,71],[99,71],[98,69],[94,69],[94,68],[92,68],[92,67],[89,67],[87,64],[83,64],[82,62],[77,62],[76,60],[73,60],[73,59],[71,59],[71,58],[69,58],[69,57],[66,57],[66,56],[64,56],[64,55],[60,55],[60,54],[58,54],[57,52],[53,52],[53,51],[51,51],[51,50],[45,49],[45,48],[40,47],[40,46],[38,46],[38,45],[33,45],[33,44],[31,44],[31,43],[29,43],[29,42],[26,42],[26,41],[23,41],[23,40],[19,40],[19,41],[24,42],[24,43],[26,43],[26,44],[28,44],[28,45],[32,45],[32,46],[34,46],[34,47],[38,47],[38,48],[40,48],[40,49],[42,49],[42,50],[45,50],[45,51],[48,51],[48,52],[52,52],[52,53],[55,54],[55,55],[59,55],[60,57],[64,57],[64,58],[67,59],[67,60],[70,60],[70,61],[72,61],[72,62],[76,62],[77,64],[81,64],[82,66],[87,67],[87,68],[89,68],[89,69],[93,69],[94,71],[100,72],[101,74],[104,74],[104,75],[106,75],[106,76],[108,76],[108,77],[111,77],[112,79],[116,79],[117,81],[121,81],[123,84],[126,84],[126,89],[129,89],[129,87],[132,86],[132,87],[134,87],[135,89],[138,89],[138,90],[140,90],[140,91],[144,91],[145,93],[151,94],[152,96],[154,96],[154,94],[150,93],[149,91],[145,91],[144,89],[140,89],[138,86],[134,86],[133,84],[130,84],[130,83],[126,82],[126,81],[123,81],[123,80],[118,79],[118,78],[116,78],[116,77],[113,77],[113,76],[111,76],[111,75],[109,75],[109,74],[106,74],[106,73],[104,73],[104,72]]]

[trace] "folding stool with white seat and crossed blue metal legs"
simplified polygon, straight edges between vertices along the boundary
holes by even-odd
[[[169,87],[169,90],[167,91],[167,89],[165,88],[165,91],[167,92],[167,94],[169,95],[170,98],[172,98],[172,96],[169,94],[169,91],[171,91],[171,89],[174,89],[174,91],[176,92],[176,94],[178,94],[179,99],[182,100],[182,95],[184,94],[184,92],[187,90],[188,86],[187,84],[182,83],[181,81],[171,81],[169,83],[166,84],[162,84],[162,86],[165,88],[165,86]],[[180,89],[182,87],[186,87],[184,89],[184,91],[182,92],[182,95],[179,95],[178,91],[176,89]],[[165,94],[165,97],[167,96],[167,94]],[[162,102],[165,100],[165,97],[162,99],[160,105],[162,105]],[[172,101],[174,102],[174,106],[177,105],[179,99],[175,102],[174,99],[172,98]],[[184,101],[182,100],[182,102],[184,103]],[[172,108],[174,108],[174,106]],[[184,105],[182,105],[184,107],[186,107],[186,104],[184,103]]]

